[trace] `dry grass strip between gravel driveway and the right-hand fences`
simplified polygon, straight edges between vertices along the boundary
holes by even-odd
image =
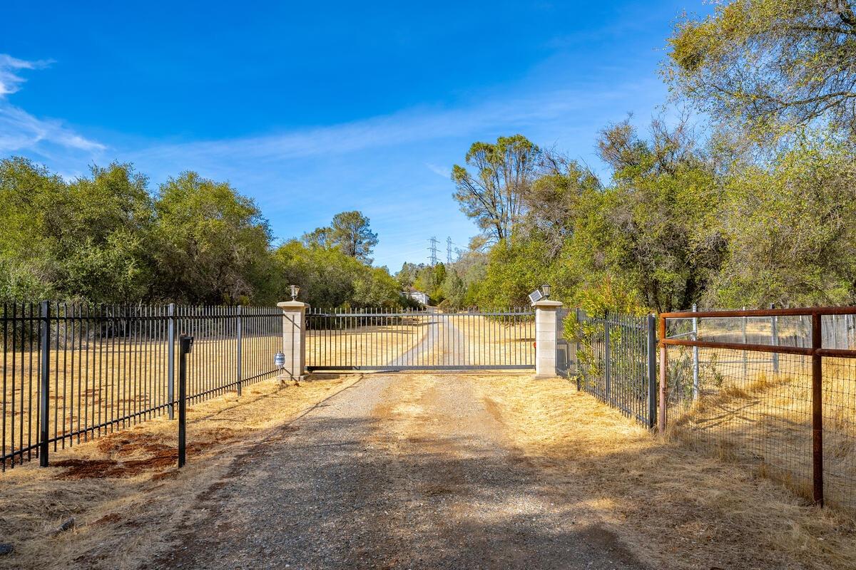
[[[476,386],[527,461],[652,567],[856,567],[856,523],[846,514],[657,439],[566,381],[484,377]]]

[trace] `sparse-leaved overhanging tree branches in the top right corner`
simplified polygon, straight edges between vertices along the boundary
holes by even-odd
[[[818,120],[856,134],[856,14],[850,0],[734,0],[686,17],[666,77],[716,120],[754,135]]]

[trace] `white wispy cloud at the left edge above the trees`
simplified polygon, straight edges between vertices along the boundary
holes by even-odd
[[[22,70],[46,68],[51,61],[28,62],[0,54],[0,154],[20,152],[51,157],[57,151],[72,150],[89,155],[105,150],[104,144],[83,137],[61,120],[39,118],[9,103],[9,95],[21,91],[26,81]]]

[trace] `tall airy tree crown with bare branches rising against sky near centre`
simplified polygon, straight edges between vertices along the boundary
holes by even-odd
[[[461,211],[475,220],[492,241],[511,237],[514,224],[523,214],[523,195],[538,168],[540,150],[523,135],[500,137],[496,144],[473,143],[467,151],[467,166],[455,164],[455,200]]]

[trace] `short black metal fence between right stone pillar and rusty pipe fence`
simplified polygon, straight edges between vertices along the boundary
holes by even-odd
[[[653,427],[657,417],[656,318],[565,310],[557,326],[566,344],[574,344],[574,367],[564,372],[577,389],[587,391],[621,413]],[[567,348],[565,349],[567,351]],[[557,355],[557,362],[562,359]],[[567,359],[566,359],[567,360]],[[559,366],[562,372],[562,366]]]

